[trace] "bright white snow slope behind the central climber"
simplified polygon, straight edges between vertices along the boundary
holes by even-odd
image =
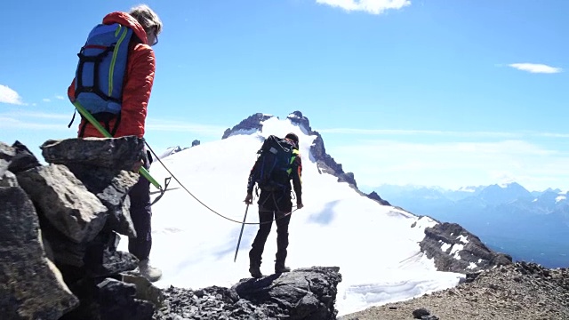
[[[262,132],[236,132],[163,161],[197,199],[229,219],[242,221],[246,181],[262,139],[288,132],[301,140],[305,207],[293,212],[286,263],[291,268],[340,267],[343,280],[336,301],[340,316],[458,284],[462,275],[437,271],[420,251],[424,228],[436,221],[377,204],[347,183],[320,173],[309,156],[315,136],[304,134],[288,119],[272,117],[263,123]],[[157,162],[150,172],[159,181],[168,176]],[[234,262],[241,224],[221,218],[179,187],[172,180],[172,190],[153,206],[150,258],[164,272],[156,285],[229,287],[249,277],[248,251],[258,227],[245,226]],[[256,205],[249,207],[247,222],[258,222]],[[126,243],[124,239],[119,250],[126,251]],[[273,226],[263,253],[264,274],[272,273],[275,253]]]

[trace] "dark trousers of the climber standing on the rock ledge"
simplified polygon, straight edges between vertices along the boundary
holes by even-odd
[[[252,266],[260,266],[265,243],[274,219],[276,219],[276,265],[284,265],[292,206],[290,191],[288,194],[261,191],[259,197],[259,231],[257,231],[257,236],[255,236],[252,249],[249,252],[249,261]]]

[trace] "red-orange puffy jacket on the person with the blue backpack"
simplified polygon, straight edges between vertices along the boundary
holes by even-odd
[[[140,23],[125,12],[109,13],[104,19],[104,24],[120,23],[132,28],[131,44],[129,44],[128,64],[123,83],[123,106],[121,108],[121,121],[118,124],[115,137],[136,135],[144,136],[144,123],[147,115],[148,99],[152,91],[155,72],[154,51],[148,45],[148,39],[144,28]],[[75,100],[75,79],[68,88],[68,97]],[[80,128],[85,124],[82,120]],[[115,127],[115,120],[110,121],[110,128]],[[104,127],[104,125],[103,125]],[[78,132],[77,132],[78,133]],[[103,135],[87,122],[84,137],[100,137]]]

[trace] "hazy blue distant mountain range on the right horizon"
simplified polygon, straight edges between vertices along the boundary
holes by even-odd
[[[517,182],[447,190],[382,185],[373,188],[394,206],[456,222],[515,260],[569,267],[569,201],[560,189],[528,191]]]

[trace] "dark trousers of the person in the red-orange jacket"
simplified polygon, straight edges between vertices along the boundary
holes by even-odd
[[[145,164],[147,169],[149,164]],[[148,259],[152,248],[152,229],[150,222],[150,182],[140,175],[139,181],[129,193],[131,197],[131,219],[136,230],[136,238],[128,239],[128,251],[139,260]]]

